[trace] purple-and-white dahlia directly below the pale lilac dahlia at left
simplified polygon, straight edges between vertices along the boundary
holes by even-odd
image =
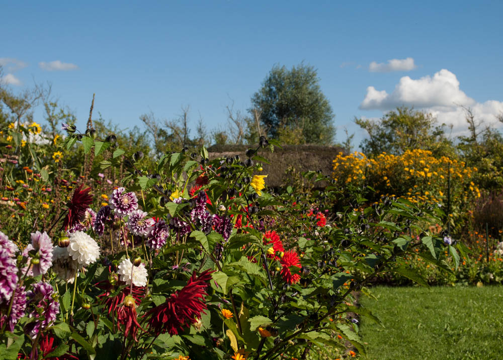
[[[32,339],[35,339],[40,331],[50,326],[56,320],[56,315],[59,314],[59,303],[54,300],[53,293],[52,285],[40,282],[34,284],[32,291],[26,294],[28,305],[31,308],[28,317],[37,319],[26,327],[26,332],[29,332]],[[43,319],[40,319],[41,316]]]

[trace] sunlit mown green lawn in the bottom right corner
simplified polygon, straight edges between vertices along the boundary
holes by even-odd
[[[503,287],[372,289],[361,304],[385,328],[361,318],[367,356],[376,360],[503,359]]]

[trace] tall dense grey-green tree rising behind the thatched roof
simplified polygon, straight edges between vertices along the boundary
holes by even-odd
[[[333,112],[319,87],[316,69],[301,63],[288,70],[275,65],[251,97],[253,109],[260,112],[261,124],[271,138],[278,138],[281,130],[302,131],[303,143],[330,145],[336,130]]]

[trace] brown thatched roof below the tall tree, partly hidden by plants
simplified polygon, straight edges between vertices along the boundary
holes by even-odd
[[[237,154],[244,160],[246,159],[244,153],[249,147],[251,146],[213,145],[208,148],[208,152],[211,159]],[[259,150],[259,155],[271,162],[270,165],[263,165],[264,170],[262,173],[268,175],[267,186],[279,188],[283,185],[285,171],[290,166],[294,166],[297,171],[321,170],[323,174],[330,175],[332,173],[332,160],[342,151],[343,149],[340,147],[284,145],[282,149],[275,147],[272,153],[269,149]]]

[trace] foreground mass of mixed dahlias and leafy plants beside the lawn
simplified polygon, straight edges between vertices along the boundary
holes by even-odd
[[[58,151],[81,142],[81,172],[43,158],[32,189],[57,189],[44,198],[57,209],[32,191],[13,218],[24,225],[2,226],[4,358],[319,358],[346,341],[364,353],[355,314],[379,320],[354,293],[390,272],[426,284],[409,256],[452,272],[465,250],[428,229],[445,214],[422,202],[379,194],[368,206],[366,189],[337,183],[267,189],[260,151],[277,144],[264,138],[245,159],[203,147],[146,161],[111,135],[63,128]],[[10,164],[3,191],[24,194],[25,164]]]

